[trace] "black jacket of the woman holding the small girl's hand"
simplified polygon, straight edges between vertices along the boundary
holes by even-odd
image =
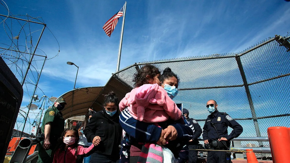
[[[122,128],[119,124],[119,114],[110,117],[105,109],[93,114],[90,122],[84,129],[88,142],[92,142],[95,136],[101,137],[99,145],[94,147],[95,153],[105,155],[119,155]]]

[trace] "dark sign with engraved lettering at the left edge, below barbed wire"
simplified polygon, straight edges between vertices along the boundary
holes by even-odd
[[[22,96],[22,86],[0,57],[0,162],[11,140]]]

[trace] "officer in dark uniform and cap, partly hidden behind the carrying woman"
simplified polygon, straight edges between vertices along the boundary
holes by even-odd
[[[182,109],[182,113],[184,117],[186,118],[187,122],[191,123],[194,127],[194,135],[193,138],[189,141],[189,154],[188,154],[188,162],[189,163],[196,163],[197,162],[197,150],[192,149],[200,149],[199,142],[197,138],[200,137],[202,134],[202,129],[200,128],[200,125],[197,123],[197,121],[193,118],[189,118],[189,111],[187,109]]]

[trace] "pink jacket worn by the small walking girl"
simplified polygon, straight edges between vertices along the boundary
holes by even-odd
[[[93,148],[94,148],[94,144],[92,144],[88,148],[85,148],[83,146],[78,146],[77,155],[87,154]],[[75,148],[68,147],[66,151],[60,151],[60,149],[57,149],[57,151],[55,152],[52,163],[66,163],[66,162],[69,162],[69,163],[77,162],[77,156],[75,155]]]

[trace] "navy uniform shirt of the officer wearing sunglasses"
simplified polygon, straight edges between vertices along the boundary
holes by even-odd
[[[232,117],[224,112],[215,111],[213,114],[207,116],[203,127],[203,140],[218,140],[218,134],[214,127],[211,126],[211,122],[218,130],[220,137],[225,137],[228,141],[238,137],[243,132],[243,127],[238,124]],[[231,134],[228,135],[228,126],[233,128]]]

